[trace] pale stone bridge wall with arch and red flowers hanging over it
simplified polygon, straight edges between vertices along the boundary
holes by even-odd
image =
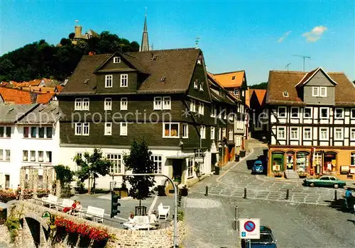
[[[41,216],[45,211],[50,212],[53,215],[65,217],[67,220],[73,220],[79,224],[84,223],[90,225],[92,227],[97,227],[100,229],[106,229],[110,235],[114,237],[113,240],[107,243],[107,247],[122,247],[122,248],[143,248],[143,247],[156,247],[156,248],[168,248],[173,247],[173,235],[174,235],[174,227],[170,225],[167,228],[159,229],[159,230],[123,230],[115,227],[109,227],[107,225],[103,225],[97,222],[92,222],[90,220],[84,220],[82,218],[77,218],[72,215],[67,215],[65,213],[58,212],[53,209],[49,209],[43,207],[42,205],[38,205],[34,199],[28,201],[19,201],[16,205],[12,205],[9,208],[8,213],[12,213],[14,215],[18,215],[21,213],[23,218],[25,218],[23,229],[18,232],[18,238],[16,240],[16,246],[18,247],[33,247],[33,239],[31,233],[29,232],[29,228],[26,223],[26,218],[33,218],[38,220],[45,230],[48,229],[48,220],[43,219]],[[43,230],[41,228],[41,230]],[[4,232],[8,232],[7,228],[1,226],[0,228],[0,242],[6,242],[9,240],[9,234]],[[181,244],[182,239],[185,236],[185,225],[184,222],[178,222],[178,244]],[[50,247],[49,242],[43,239],[44,233],[43,231],[40,233],[40,246]],[[9,242],[7,242],[9,244]],[[60,247],[60,245],[58,246]],[[65,244],[62,245],[65,247]]]

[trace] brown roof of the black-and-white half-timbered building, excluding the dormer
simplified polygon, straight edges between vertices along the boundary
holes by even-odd
[[[296,85],[306,74],[307,72],[270,71],[266,103],[305,105],[297,92],[298,87],[296,87]],[[337,85],[335,85],[335,105],[354,106],[355,86],[346,77],[344,72],[327,72],[327,75],[337,83]],[[312,75],[310,75],[310,77],[311,76]],[[283,96],[283,91],[288,91],[288,97]]]

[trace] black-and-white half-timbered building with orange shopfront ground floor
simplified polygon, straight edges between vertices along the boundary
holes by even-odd
[[[271,71],[266,104],[269,175],[354,177],[355,88],[344,73]]]

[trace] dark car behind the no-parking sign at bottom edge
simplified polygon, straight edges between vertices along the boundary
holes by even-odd
[[[251,239],[250,248],[277,248],[277,241],[277,239],[274,239],[273,231],[270,229],[270,227],[262,225],[260,227],[260,239]],[[249,240],[242,239],[241,247],[249,248]]]

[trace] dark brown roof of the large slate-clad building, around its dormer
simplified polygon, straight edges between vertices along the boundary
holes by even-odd
[[[200,52],[199,49],[185,48],[119,54],[139,72],[147,74],[138,89],[138,94],[149,94],[187,91]],[[152,55],[157,55],[157,59],[151,60]],[[62,94],[95,94],[97,81],[94,72],[112,56],[83,56]],[[164,82],[160,81],[162,77],[165,77]],[[89,79],[88,84],[84,84],[86,79]]]

